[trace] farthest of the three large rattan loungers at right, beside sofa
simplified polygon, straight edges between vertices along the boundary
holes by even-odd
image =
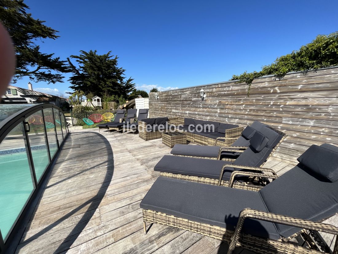
[[[229,151],[226,151],[223,148],[224,146],[217,146],[218,141],[225,140],[224,137],[220,138],[217,137],[214,146],[192,146],[192,145],[175,145],[172,150],[171,154],[179,155],[179,156],[187,156],[187,157],[194,157],[194,158],[208,158],[213,160],[225,160],[232,159],[234,161],[238,156],[239,152],[232,152],[231,149],[240,149],[245,150],[250,145],[250,139],[255,134],[256,131],[261,131],[263,126],[267,126],[258,121],[254,121],[250,126],[247,126],[241,133],[241,136],[228,147]],[[263,133],[264,134],[264,133]],[[231,138],[233,139],[233,138]],[[222,148],[222,149],[221,149]],[[221,149],[221,150],[220,150]]]

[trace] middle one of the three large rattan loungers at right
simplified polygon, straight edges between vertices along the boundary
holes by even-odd
[[[231,173],[236,170],[274,173],[261,167],[283,141],[285,134],[266,126],[262,127],[262,132],[264,135],[259,131],[255,132],[246,150],[233,150],[241,153],[233,162],[164,155],[154,170],[160,171],[160,174],[166,177],[225,186],[229,183]],[[236,185],[244,189],[259,189],[265,185],[253,182],[248,177],[239,177],[237,180]]]

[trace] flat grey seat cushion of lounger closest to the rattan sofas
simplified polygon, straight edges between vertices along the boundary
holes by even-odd
[[[193,146],[176,144],[171,154],[217,158],[219,146]]]

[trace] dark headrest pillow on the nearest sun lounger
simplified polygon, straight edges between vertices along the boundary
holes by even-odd
[[[328,182],[338,180],[338,153],[312,145],[297,161]]]

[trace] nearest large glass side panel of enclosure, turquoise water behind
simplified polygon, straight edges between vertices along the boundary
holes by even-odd
[[[0,143],[0,230],[6,239],[34,190],[21,122]]]

